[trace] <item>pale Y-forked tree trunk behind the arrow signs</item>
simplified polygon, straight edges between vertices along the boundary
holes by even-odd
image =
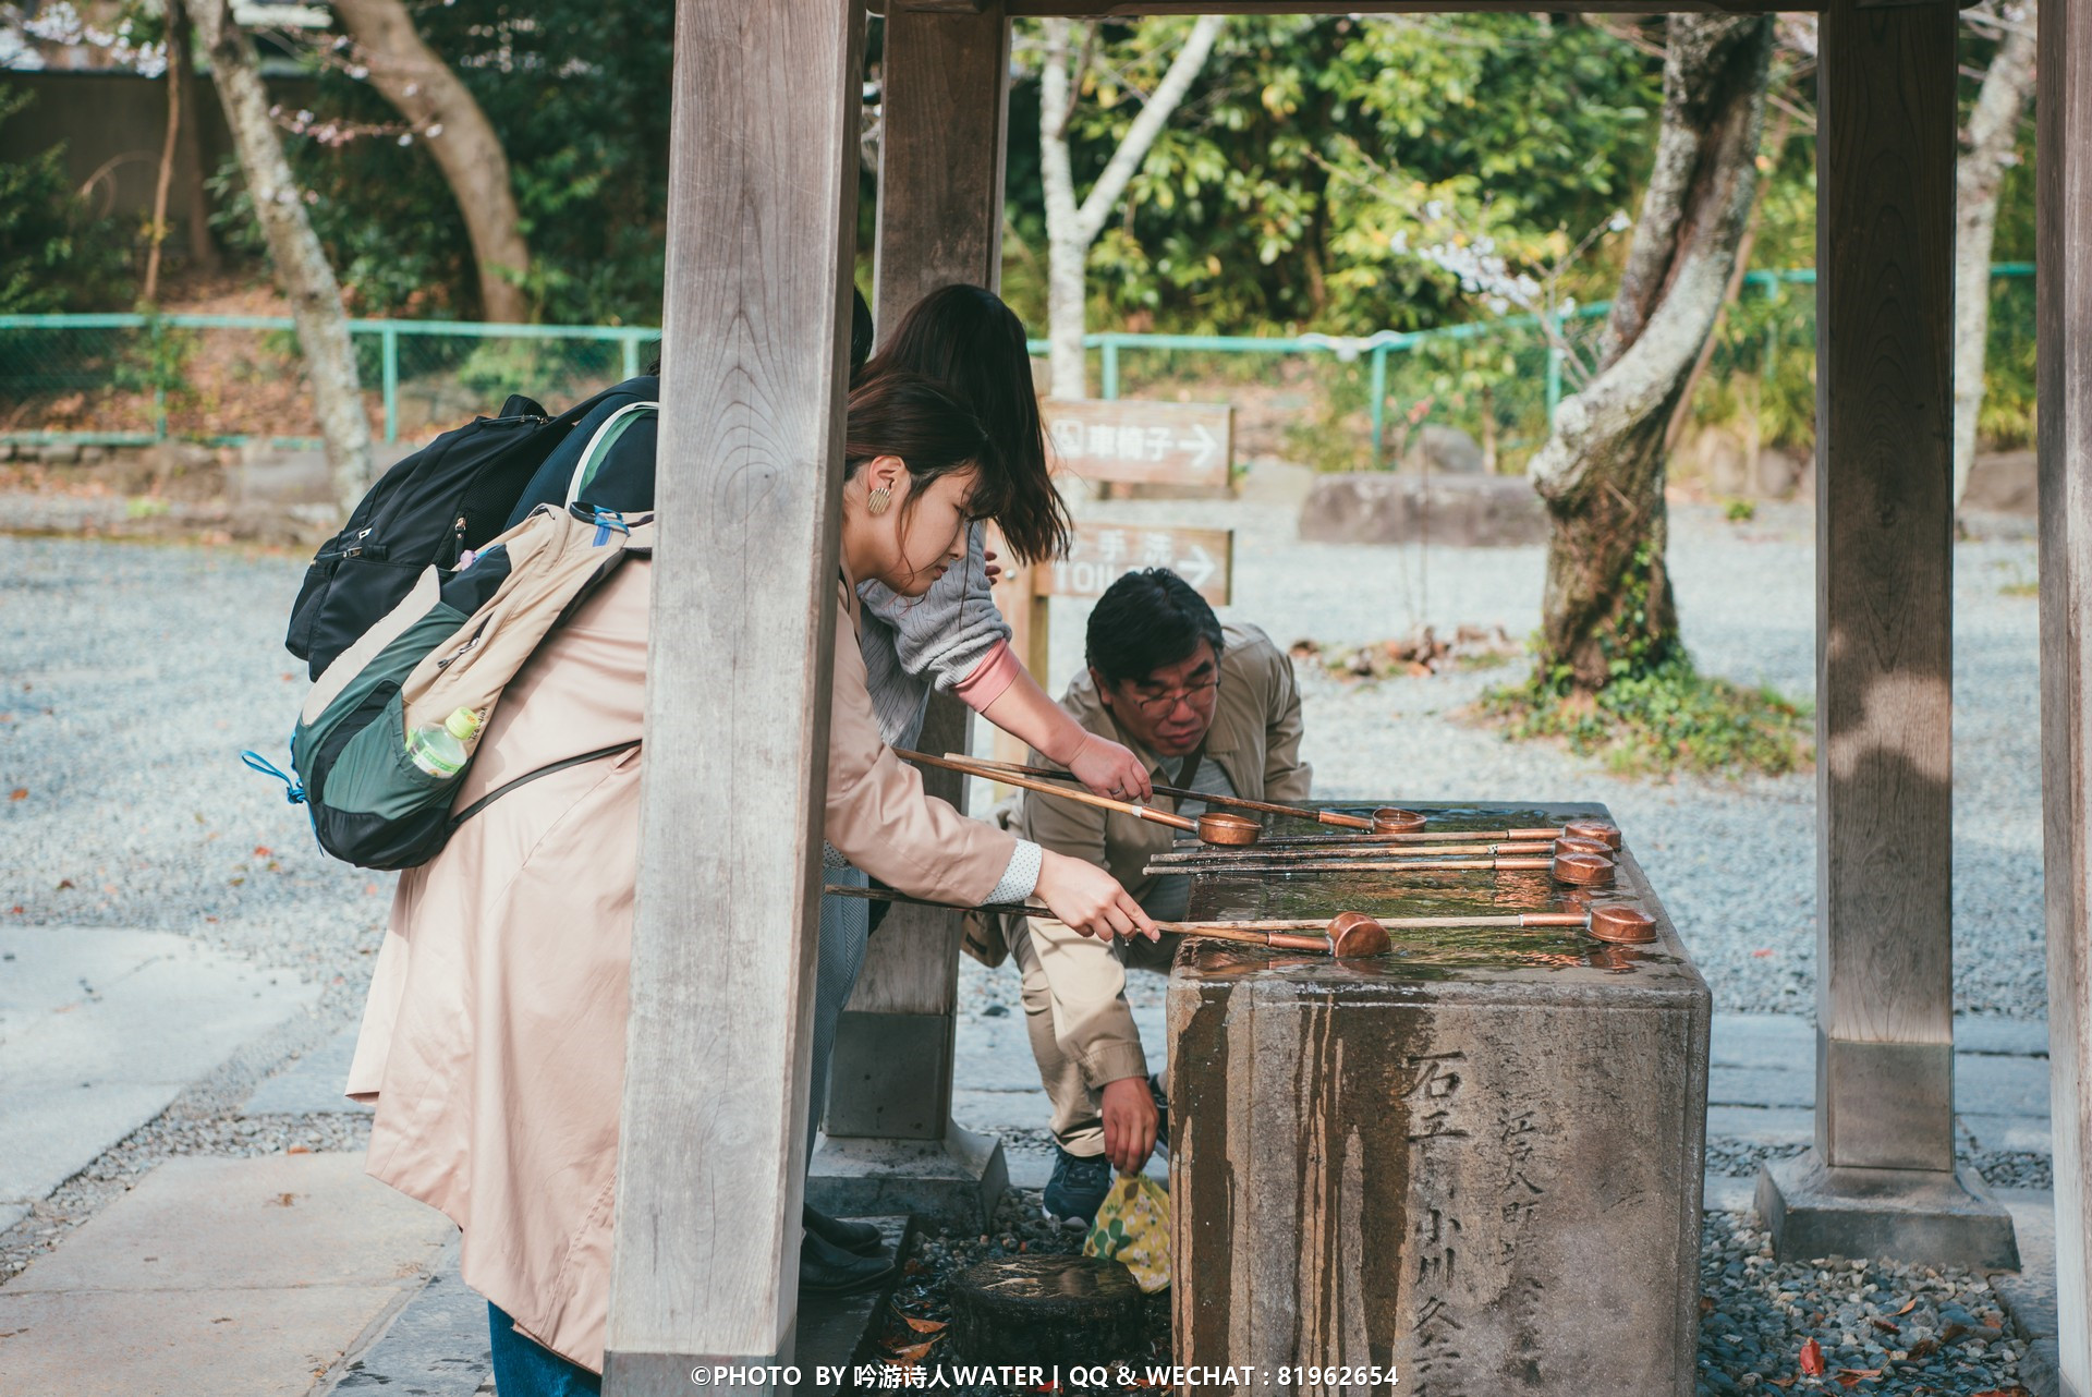
[[[1184,48],[1169,61],[1169,71],[1142,102],[1140,115],[1128,128],[1119,148],[1111,153],[1105,174],[1090,194],[1075,203],[1075,167],[1069,155],[1067,128],[1082,100],[1082,69],[1088,67],[1092,31],[1084,36],[1082,54],[1069,59],[1075,21],[1046,19],[1046,59],[1040,65],[1040,180],[1046,190],[1046,339],[1054,397],[1088,397],[1082,358],[1084,268],[1090,245],[1105,230],[1105,220],[1125,194],[1125,184],[1149,157],[1149,148],[1169,123],[1169,113],[1184,100],[1192,77],[1205,67],[1213,42],[1228,19],[1201,15],[1184,38]]]

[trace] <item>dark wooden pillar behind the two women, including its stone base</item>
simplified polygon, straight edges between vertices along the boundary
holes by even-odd
[[[937,287],[1000,282],[1008,71],[1000,0],[981,13],[887,6],[872,291],[881,335]],[[971,717],[935,694],[918,747],[964,751]],[[925,772],[923,784],[964,799],[956,774]],[[994,1209],[1006,1182],[1002,1144],[952,1123],[958,937],[956,914],[906,906],[872,937],[837,1027],[828,1140],[808,1184],[816,1205],[960,1226]]]

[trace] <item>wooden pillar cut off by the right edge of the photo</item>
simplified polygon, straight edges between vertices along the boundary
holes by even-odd
[[[2042,805],[2056,1313],[2092,1305],[2092,6],[2042,6],[2038,326]],[[2063,1391],[2092,1395],[2092,1334],[2061,1334]]]

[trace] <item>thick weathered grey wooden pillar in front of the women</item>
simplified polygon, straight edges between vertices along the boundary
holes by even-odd
[[[793,1349],[862,44],[854,0],[676,13],[617,1397]]]

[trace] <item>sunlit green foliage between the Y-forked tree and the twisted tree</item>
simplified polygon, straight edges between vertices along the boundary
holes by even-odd
[[[1100,25],[1077,188],[1184,29]],[[1659,90],[1659,61],[1575,17],[1238,17],[1090,253],[1092,322],[1370,333],[1473,318],[1473,293],[1418,249],[1490,236],[1521,268],[1561,257],[1632,207]],[[1008,199],[1017,238],[1042,249],[1036,105],[1036,84],[1013,94]],[[1602,295],[1611,274],[1575,280]]]

